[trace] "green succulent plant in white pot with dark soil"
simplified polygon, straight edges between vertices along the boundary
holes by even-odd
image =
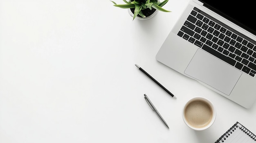
[[[110,0],[111,1],[111,0]],[[160,2],[159,0],[123,0],[126,4],[116,4],[114,3],[115,7],[128,9],[131,12],[131,15],[133,15],[133,20],[136,17],[140,18],[148,18],[150,15],[155,15],[157,11],[163,11],[163,12],[171,12],[163,9],[162,7],[164,4],[168,2],[168,0],[164,0],[163,2]]]

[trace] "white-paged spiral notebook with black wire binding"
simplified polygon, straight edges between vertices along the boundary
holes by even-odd
[[[236,122],[215,143],[256,143],[256,136],[245,126]]]

